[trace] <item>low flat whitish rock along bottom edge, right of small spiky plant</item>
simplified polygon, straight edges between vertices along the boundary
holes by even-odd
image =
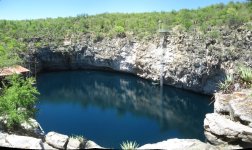
[[[138,149],[169,149],[169,150],[215,150],[215,149],[237,149],[241,148],[239,146],[213,146],[207,143],[203,143],[196,139],[169,139],[167,141],[162,141],[154,144],[146,144]]]

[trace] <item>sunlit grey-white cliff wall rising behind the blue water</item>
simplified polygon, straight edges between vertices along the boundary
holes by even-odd
[[[248,53],[252,49],[251,31],[242,26],[237,30],[218,31],[220,37],[211,38],[208,35],[212,31],[191,34],[174,29],[165,43],[159,37],[147,41],[127,37],[94,41],[90,34],[84,34],[67,44],[62,41],[58,45],[31,47],[28,59],[37,61],[36,70],[31,64],[33,72],[99,68],[128,72],[153,81],[160,79],[163,68],[164,84],[212,94],[218,90],[217,84],[226,72],[232,70],[233,63],[245,61],[252,66]]]

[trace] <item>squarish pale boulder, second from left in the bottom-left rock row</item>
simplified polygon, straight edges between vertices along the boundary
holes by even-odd
[[[49,145],[58,149],[66,149],[68,136],[56,132],[49,132],[45,136],[45,141]]]

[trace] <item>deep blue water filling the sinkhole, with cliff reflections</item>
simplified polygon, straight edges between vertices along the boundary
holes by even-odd
[[[36,119],[45,132],[82,135],[104,147],[169,138],[205,140],[210,97],[160,87],[129,74],[102,71],[42,73]]]

